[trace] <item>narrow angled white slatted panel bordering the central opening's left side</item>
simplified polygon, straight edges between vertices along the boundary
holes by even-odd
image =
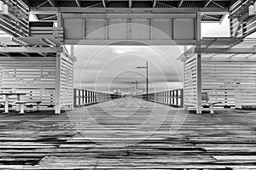
[[[61,54],[61,106],[73,105],[73,60]]]

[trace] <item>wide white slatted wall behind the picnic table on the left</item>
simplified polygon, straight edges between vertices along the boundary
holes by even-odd
[[[55,58],[1,57],[0,89],[26,92],[21,99],[39,99],[42,105],[55,105],[55,65]]]

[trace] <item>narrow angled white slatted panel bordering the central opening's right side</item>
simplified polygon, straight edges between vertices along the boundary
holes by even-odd
[[[196,106],[196,57],[185,61],[184,71],[184,105],[195,109]]]

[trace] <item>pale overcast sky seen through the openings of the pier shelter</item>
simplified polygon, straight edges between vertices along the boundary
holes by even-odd
[[[202,37],[229,37],[229,20],[222,25],[202,24]],[[183,88],[183,63],[177,46],[76,46],[75,87],[103,92],[138,88],[145,92],[146,70],[135,69],[148,61],[149,91]]]

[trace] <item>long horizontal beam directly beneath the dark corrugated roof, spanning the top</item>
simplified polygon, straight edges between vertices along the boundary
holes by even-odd
[[[90,13],[90,14],[195,14],[211,13],[224,14],[228,8],[79,8],[79,7],[40,7],[32,8],[33,14],[56,14],[56,13]]]

